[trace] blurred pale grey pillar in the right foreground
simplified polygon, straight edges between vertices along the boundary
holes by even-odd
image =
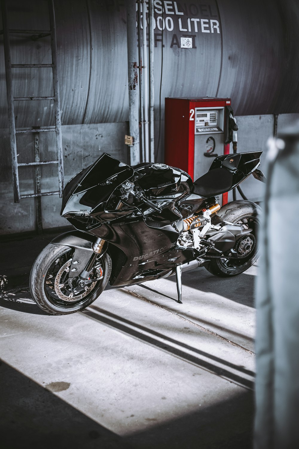
[[[299,125],[278,137],[260,232],[255,449],[299,448]]]

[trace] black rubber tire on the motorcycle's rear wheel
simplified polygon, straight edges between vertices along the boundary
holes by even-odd
[[[251,234],[255,237],[254,247],[250,254],[244,259],[230,259],[230,258],[218,258],[211,259],[205,268],[218,277],[231,277],[237,274],[243,273],[251,265],[253,265],[259,257],[258,244],[257,244],[257,231],[260,223],[261,208],[255,203],[250,201],[233,201],[225,206],[221,207],[218,214],[230,223],[242,223],[247,225],[248,228],[252,228]]]

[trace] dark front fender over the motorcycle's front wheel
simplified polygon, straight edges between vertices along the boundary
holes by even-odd
[[[95,242],[96,237],[89,235],[85,232],[80,231],[70,231],[55,237],[52,243],[55,245],[64,245],[70,248],[74,248],[74,255],[72,264],[69,267],[69,277],[78,276],[82,270],[87,266],[91,256],[94,251],[92,249],[92,244]],[[108,247],[108,242],[105,243],[104,248],[101,252],[103,255]],[[74,271],[72,271],[74,270]]]

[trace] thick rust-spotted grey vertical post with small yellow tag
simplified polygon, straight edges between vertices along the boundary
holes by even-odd
[[[127,8],[129,123],[130,123],[129,126],[130,126],[130,136],[133,136],[133,145],[130,147],[130,165],[136,165],[140,162],[136,0],[127,0],[126,8]]]

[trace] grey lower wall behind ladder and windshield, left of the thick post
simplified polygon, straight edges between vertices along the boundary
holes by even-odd
[[[3,130],[2,130],[3,131]],[[104,152],[111,154],[121,161],[128,162],[128,149],[124,144],[124,135],[127,132],[127,123],[103,123],[98,125],[68,125],[62,126],[62,144],[64,152],[65,182],[100,157]],[[41,148],[51,158],[55,152],[55,139],[52,133],[41,133]],[[6,136],[6,138],[5,138]],[[24,143],[24,156],[22,162],[30,159],[33,153],[32,135],[26,136]],[[0,235],[34,231],[35,225],[35,199],[22,199],[20,203],[13,202],[13,185],[10,180],[9,167],[9,136],[8,130],[0,134],[1,159],[0,177]],[[43,157],[44,154],[41,154]],[[31,158],[32,160],[32,158]],[[3,164],[5,162],[5,165]],[[8,165],[6,165],[8,164]],[[56,166],[41,167],[41,189],[49,191],[58,185]],[[23,171],[22,171],[23,170]],[[25,170],[25,172],[24,172]],[[20,190],[28,193],[34,189],[34,170],[32,167],[20,168]],[[68,225],[67,220],[61,218],[61,198],[58,195],[41,198],[43,229]]]

